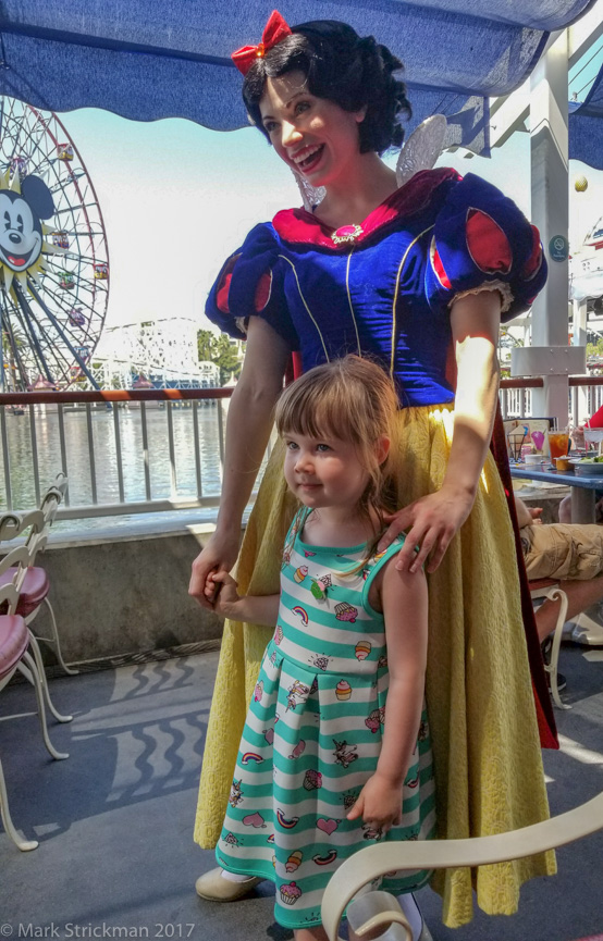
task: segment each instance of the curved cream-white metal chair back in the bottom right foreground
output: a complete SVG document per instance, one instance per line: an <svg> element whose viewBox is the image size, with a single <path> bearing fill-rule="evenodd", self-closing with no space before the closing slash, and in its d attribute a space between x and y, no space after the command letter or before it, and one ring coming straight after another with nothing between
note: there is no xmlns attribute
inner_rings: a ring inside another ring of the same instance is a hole
<svg viewBox="0 0 603 941"><path fill-rule="evenodd" d="M505 863L554 850L601 829L603 793L558 817L494 837L376 843L355 853L332 876L322 897L322 925L330 941L342 941L337 929L346 906L360 889L386 872ZM372 932L377 928L391 921L397 921L406 930L407 941L413 941L408 923L404 916L401 917L399 908L381 912L356 928L356 933L374 937Z"/></svg>

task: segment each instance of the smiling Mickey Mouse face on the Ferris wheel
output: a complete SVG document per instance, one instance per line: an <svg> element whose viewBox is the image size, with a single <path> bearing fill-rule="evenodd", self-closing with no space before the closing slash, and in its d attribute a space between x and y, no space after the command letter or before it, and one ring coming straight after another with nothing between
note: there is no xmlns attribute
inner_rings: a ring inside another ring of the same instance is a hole
<svg viewBox="0 0 603 941"><path fill-rule="evenodd" d="M41 220L54 214L50 189L39 176L26 176L21 193L0 189L0 264L23 272L38 260Z"/></svg>

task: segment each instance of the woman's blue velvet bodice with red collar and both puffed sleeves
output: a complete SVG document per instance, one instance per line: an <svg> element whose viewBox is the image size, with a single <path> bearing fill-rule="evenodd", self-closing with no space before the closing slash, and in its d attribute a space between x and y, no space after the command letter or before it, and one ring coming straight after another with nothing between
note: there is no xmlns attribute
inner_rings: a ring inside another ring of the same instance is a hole
<svg viewBox="0 0 603 941"><path fill-rule="evenodd" d="M226 261L207 315L234 336L261 317L304 370L371 355L403 407L451 401L453 301L491 288L504 320L526 310L546 278L538 231L494 186L447 169L416 174L360 228L335 242L312 213L279 212Z"/></svg>

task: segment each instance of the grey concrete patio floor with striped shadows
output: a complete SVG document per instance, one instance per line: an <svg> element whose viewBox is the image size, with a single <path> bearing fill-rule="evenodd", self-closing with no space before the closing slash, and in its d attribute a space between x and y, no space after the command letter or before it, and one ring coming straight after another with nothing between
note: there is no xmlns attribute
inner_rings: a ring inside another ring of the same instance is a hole
<svg viewBox="0 0 603 941"><path fill-rule="evenodd" d="M603 789L603 659L564 645L566 701L557 713L562 751L545 753L553 813ZM592 648L591 648L592 653ZM213 865L193 843L193 818L217 654L201 654L51 681L54 762L37 719L0 721L15 826L40 845L20 852L0 827L2 938L157 938L284 941L263 883L233 905L202 902L195 878ZM27 713L27 684L2 691L0 717ZM477 914L452 931L440 900L419 902L434 941L574 941L603 932L603 832L558 853L559 874L522 890L510 918Z"/></svg>

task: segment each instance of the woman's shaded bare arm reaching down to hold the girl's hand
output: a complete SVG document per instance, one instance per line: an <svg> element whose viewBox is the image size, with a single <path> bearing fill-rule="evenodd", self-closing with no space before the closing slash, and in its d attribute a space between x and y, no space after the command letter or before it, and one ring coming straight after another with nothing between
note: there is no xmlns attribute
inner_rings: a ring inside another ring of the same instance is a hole
<svg viewBox="0 0 603 941"><path fill-rule="evenodd" d="M268 444L290 354L285 341L266 321L250 318L243 371L229 406L216 532L193 562L188 586L188 594L205 608L211 608L205 592L209 572L230 571L236 561L243 510Z"/></svg>

